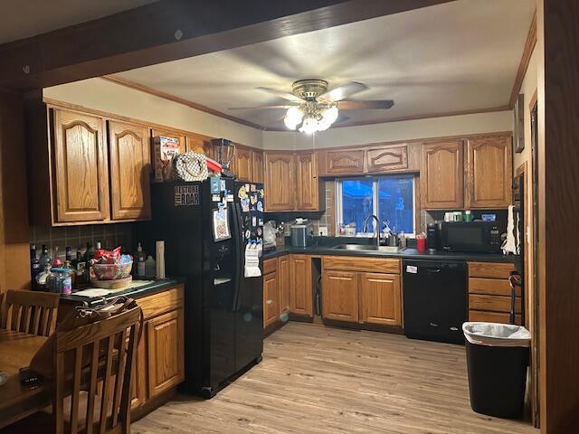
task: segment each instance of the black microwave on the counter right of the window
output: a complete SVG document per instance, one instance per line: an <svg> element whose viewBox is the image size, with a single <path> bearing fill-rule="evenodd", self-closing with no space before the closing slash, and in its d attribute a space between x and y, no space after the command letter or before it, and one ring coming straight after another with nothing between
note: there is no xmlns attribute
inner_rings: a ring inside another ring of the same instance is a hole
<svg viewBox="0 0 579 434"><path fill-rule="evenodd" d="M441 244L448 251L499 253L497 222L442 222Z"/></svg>

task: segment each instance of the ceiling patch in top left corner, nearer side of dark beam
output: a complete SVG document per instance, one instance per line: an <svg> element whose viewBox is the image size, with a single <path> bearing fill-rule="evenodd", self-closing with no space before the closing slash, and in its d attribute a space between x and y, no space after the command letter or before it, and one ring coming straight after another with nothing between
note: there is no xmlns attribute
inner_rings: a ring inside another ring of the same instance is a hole
<svg viewBox="0 0 579 434"><path fill-rule="evenodd" d="M0 43L117 14L157 0L0 0Z"/></svg>

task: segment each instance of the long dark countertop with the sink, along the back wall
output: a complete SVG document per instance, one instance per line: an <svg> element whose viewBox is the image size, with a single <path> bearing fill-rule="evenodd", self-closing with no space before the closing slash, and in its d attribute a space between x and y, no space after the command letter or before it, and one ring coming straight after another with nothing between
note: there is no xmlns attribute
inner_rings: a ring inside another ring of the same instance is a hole
<svg viewBox="0 0 579 434"><path fill-rule="evenodd" d="M351 242L350 242L351 244ZM342 250L332 246L309 246L293 247L280 246L275 250L263 253L263 259L277 258L289 253L305 255L335 255L335 256L357 256L357 257L380 257L380 258L400 258L400 259L433 259L433 260L477 260L481 262L510 262L519 260L515 255L501 255L497 253L461 253L438 250L435 252L419 252L416 249L406 248L397 253L389 253L376 250Z"/></svg>

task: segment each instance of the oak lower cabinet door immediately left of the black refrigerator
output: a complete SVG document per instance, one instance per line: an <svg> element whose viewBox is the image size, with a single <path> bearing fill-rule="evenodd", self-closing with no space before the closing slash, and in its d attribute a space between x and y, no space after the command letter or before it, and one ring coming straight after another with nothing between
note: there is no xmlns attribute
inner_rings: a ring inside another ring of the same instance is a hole
<svg viewBox="0 0 579 434"><path fill-rule="evenodd" d="M179 308L147 323L149 399L185 378L183 319L183 308Z"/></svg>

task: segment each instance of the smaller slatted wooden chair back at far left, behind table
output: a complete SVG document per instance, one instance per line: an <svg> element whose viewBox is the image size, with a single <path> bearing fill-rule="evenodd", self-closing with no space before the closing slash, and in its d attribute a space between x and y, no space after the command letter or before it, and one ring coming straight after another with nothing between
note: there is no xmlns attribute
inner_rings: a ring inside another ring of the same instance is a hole
<svg viewBox="0 0 579 434"><path fill-rule="evenodd" d="M59 294L8 289L5 294L2 327L31 335L48 336L54 332Z"/></svg>

